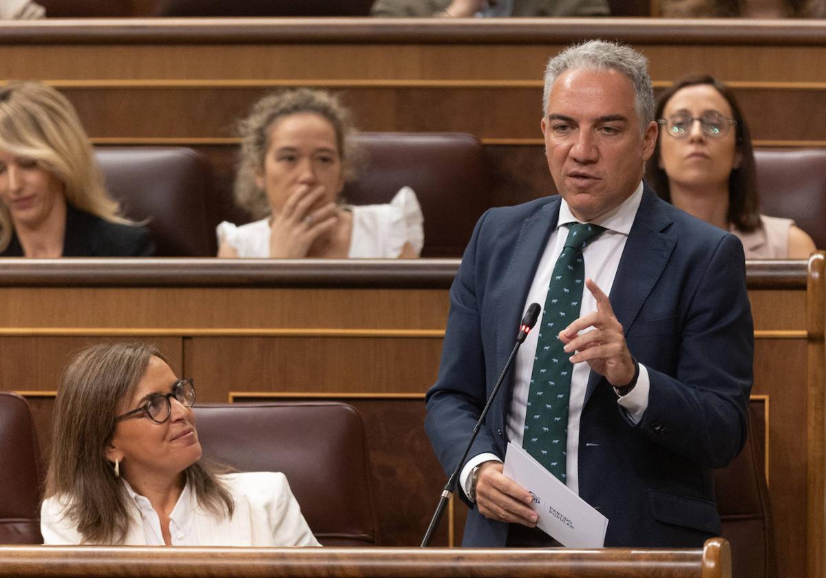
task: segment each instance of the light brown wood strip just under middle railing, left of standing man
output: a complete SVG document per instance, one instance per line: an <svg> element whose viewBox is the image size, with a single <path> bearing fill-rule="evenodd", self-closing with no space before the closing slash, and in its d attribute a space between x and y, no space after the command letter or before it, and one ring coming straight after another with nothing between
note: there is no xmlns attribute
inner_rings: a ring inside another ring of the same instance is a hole
<svg viewBox="0 0 826 578"><path fill-rule="evenodd" d="M8 304L0 310L0 328L80 334L89 332L84 328L122 329L125 334L130 329L165 328L176 334L225 329L225 335L233 329L265 333L270 328L440 330L449 305L444 291L403 289L0 287L0 299ZM97 310L102 303L107 306Z"/></svg>

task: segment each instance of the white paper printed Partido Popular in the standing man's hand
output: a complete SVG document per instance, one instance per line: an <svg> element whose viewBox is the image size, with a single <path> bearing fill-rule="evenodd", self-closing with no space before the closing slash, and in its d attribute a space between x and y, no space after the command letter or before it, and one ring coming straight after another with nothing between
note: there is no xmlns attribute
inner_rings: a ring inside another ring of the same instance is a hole
<svg viewBox="0 0 826 578"><path fill-rule="evenodd" d="M531 508L539 514L537 527L563 546L599 548L605 544L608 519L523 448L508 443L503 473L534 495Z"/></svg>

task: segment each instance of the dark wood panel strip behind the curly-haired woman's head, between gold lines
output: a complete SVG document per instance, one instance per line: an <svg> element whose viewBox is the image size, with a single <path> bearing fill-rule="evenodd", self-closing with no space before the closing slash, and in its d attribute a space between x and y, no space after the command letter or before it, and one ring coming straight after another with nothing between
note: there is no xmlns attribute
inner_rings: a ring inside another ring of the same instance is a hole
<svg viewBox="0 0 826 578"><path fill-rule="evenodd" d="M826 63L824 63L826 66ZM311 80L306 81L311 83ZM289 86L289 81L282 85ZM301 84L305 84L304 81ZM317 83L325 87L326 83ZM541 151L542 85L526 87L334 86L354 112L360 130L402 132L467 132L482 140L531 141ZM140 88L89 86L60 88L78 109L89 135L97 142L165 142L197 144L234 135L235 119L275 87L207 86ZM734 88L743 115L752 119L752 139L776 143L800 141L826 144L826 120L816 114L826 95L826 83L816 88ZM182 114L186 111L185 114ZM152 118L152 122L146 122ZM230 145L234 144L230 143Z"/></svg>

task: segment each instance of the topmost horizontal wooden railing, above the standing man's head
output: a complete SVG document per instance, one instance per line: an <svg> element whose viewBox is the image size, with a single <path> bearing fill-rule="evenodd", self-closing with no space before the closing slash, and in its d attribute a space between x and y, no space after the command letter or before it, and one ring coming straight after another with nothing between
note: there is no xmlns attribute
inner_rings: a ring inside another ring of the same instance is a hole
<svg viewBox="0 0 826 578"><path fill-rule="evenodd" d="M678 32L677 32L678 29ZM99 18L6 21L0 45L235 44L554 44L610 37L633 44L823 45L818 20L647 18Z"/></svg>

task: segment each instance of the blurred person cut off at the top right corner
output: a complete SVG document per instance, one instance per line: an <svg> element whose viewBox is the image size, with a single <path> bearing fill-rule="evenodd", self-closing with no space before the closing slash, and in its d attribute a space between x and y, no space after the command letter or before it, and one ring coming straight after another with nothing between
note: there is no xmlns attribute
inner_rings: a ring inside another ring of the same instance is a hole
<svg viewBox="0 0 826 578"><path fill-rule="evenodd" d="M666 18L824 18L826 0L660 0Z"/></svg>

